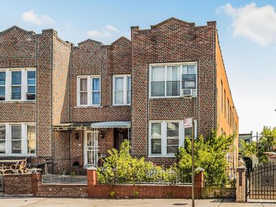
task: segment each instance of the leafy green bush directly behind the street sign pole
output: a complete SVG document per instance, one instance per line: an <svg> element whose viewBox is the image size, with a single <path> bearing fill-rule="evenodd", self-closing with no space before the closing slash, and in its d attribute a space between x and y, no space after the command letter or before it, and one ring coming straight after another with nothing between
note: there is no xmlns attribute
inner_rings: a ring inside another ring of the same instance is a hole
<svg viewBox="0 0 276 207"><path fill-rule="evenodd" d="M230 152L235 135L217 135L213 130L206 139L200 136L195 140L195 168L204 168L205 180L209 186L225 186L228 181L226 155ZM179 148L177 153L179 162L175 168L191 175L191 140L185 139L185 148Z"/></svg>

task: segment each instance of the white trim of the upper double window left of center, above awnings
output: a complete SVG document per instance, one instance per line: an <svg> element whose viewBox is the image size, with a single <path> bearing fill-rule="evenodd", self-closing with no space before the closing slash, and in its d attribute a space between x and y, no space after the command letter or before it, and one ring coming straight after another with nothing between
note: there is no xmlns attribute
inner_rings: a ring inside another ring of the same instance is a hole
<svg viewBox="0 0 276 207"><path fill-rule="evenodd" d="M81 104L79 89L80 79L87 78L87 104ZM99 78L99 104L92 104L92 78ZM101 76L100 75L78 75L77 76L77 106L78 107L99 107L101 106Z"/></svg>

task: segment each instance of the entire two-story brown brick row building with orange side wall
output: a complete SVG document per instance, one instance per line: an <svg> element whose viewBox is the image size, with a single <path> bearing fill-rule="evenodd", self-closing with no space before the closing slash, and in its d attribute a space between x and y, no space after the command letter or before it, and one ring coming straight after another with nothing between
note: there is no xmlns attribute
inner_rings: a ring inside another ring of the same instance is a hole
<svg viewBox="0 0 276 207"><path fill-rule="evenodd" d="M238 135L214 21L131 27L131 41L110 46L90 39L74 46L55 30L0 33L2 157L82 171L130 139L132 155L168 166L190 135L188 117L197 120L197 135Z"/></svg>

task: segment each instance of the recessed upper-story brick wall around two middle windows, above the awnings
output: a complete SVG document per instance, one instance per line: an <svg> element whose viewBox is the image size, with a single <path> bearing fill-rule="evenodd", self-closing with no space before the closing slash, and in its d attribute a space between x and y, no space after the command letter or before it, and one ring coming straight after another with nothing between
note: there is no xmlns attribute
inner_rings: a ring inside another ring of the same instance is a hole
<svg viewBox="0 0 276 207"><path fill-rule="evenodd" d="M130 106L112 106L112 75L131 74L131 42L120 38L111 46L86 40L72 50L72 121L130 121ZM101 106L77 107L77 76L101 76Z"/></svg>

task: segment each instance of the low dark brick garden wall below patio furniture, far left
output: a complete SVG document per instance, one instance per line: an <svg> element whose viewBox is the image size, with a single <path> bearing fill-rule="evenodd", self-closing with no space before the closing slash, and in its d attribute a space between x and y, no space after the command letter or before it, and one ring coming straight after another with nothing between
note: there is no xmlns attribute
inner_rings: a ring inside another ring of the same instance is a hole
<svg viewBox="0 0 276 207"><path fill-rule="evenodd" d="M32 195L32 175L4 175L4 195Z"/></svg>

